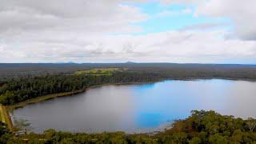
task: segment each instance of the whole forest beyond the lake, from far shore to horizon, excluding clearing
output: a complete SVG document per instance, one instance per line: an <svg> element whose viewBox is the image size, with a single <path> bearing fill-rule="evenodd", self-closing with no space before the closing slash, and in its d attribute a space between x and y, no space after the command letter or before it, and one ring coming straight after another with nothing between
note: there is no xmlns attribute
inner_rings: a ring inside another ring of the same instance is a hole
<svg viewBox="0 0 256 144"><path fill-rule="evenodd" d="M0 103L13 105L47 94L86 90L107 83L154 82L162 79L231 78L256 80L254 65L173 63L1 64ZM113 74L77 74L78 70L115 68ZM14 73L10 73L14 70ZM37 72L35 72L37 71ZM62 71L62 73L60 72ZM9 74L9 75L8 75ZM13 75L12 75L13 74ZM5 75L5 76L3 76Z"/></svg>

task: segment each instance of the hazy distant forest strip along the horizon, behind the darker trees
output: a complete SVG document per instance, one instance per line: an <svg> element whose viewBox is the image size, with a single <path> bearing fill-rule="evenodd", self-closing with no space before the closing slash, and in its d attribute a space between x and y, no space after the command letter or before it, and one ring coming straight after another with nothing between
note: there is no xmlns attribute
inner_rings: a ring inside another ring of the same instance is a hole
<svg viewBox="0 0 256 144"><path fill-rule="evenodd" d="M0 84L10 78L31 78L74 74L79 70L127 69L136 73L158 73L169 78L250 78L256 79L255 65L175 63L0 63Z"/></svg>

